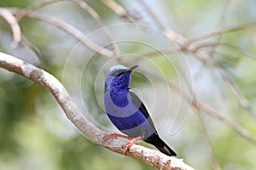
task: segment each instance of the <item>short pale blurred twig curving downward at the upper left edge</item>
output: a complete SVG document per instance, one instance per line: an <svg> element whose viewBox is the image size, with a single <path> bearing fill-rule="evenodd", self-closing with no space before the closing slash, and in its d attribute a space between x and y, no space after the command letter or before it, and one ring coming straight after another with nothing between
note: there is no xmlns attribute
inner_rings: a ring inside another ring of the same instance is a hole
<svg viewBox="0 0 256 170"><path fill-rule="evenodd" d="M0 16L3 17L9 23L9 26L12 29L14 41L12 42L12 46L15 48L21 42L21 32L18 21L15 19L15 16L9 12L6 8L0 8Z"/></svg>

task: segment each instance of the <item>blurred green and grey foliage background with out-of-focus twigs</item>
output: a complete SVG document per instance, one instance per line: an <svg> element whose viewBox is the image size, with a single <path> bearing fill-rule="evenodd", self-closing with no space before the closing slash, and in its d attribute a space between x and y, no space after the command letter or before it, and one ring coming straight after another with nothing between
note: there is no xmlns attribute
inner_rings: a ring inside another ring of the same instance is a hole
<svg viewBox="0 0 256 170"><path fill-rule="evenodd" d="M256 168L255 1L0 7L0 51L57 77L96 127L118 132L103 105L109 68L139 65L131 88L178 158L195 169ZM47 90L3 69L0 101L0 169L154 169L84 138Z"/></svg>

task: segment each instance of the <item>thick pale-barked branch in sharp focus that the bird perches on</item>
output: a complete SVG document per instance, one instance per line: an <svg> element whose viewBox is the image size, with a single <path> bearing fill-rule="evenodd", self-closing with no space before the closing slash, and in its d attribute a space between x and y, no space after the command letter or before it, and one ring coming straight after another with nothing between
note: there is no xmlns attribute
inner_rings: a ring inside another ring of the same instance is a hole
<svg viewBox="0 0 256 170"><path fill-rule="evenodd" d="M73 100L67 93L66 88L64 88L61 82L59 82L54 76L21 59L17 59L14 56L3 54L1 52L0 67L26 77L33 82L37 82L39 85L46 88L51 94L53 94L59 105L61 105L61 108L66 113L67 118L73 122L73 125L77 127L85 137L96 144L102 145L108 150L125 155L125 149L122 148L122 144L125 144L125 142L119 139L109 139L108 142L103 142L103 136L105 134L85 118L83 113L79 111L77 106L73 103ZM185 164L183 159L166 156L158 150L151 150L137 144L133 144L131 146L129 152L126 153L126 156L131 156L137 160L148 163L152 167L158 167L160 169L194 169L193 167L189 167L189 165Z"/></svg>

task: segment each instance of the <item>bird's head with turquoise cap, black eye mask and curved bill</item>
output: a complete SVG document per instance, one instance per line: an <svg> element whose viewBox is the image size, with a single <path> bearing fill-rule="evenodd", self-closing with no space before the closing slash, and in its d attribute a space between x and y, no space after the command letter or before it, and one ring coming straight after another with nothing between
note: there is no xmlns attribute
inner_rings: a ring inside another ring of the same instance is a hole
<svg viewBox="0 0 256 170"><path fill-rule="evenodd" d="M110 68L108 77L105 82L105 91L113 90L128 90L131 80L131 71L137 68L138 65L127 68L124 65L115 65Z"/></svg>

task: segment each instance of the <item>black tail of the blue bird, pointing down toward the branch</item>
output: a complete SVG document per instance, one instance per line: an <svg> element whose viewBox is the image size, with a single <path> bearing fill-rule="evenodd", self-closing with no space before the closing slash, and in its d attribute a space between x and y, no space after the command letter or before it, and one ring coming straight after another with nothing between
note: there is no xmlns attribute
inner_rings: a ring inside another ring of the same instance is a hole
<svg viewBox="0 0 256 170"><path fill-rule="evenodd" d="M149 144L153 144L158 150L167 156L177 156L177 154L155 133L144 141Z"/></svg>

